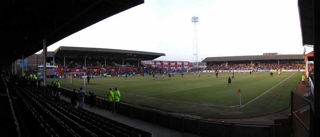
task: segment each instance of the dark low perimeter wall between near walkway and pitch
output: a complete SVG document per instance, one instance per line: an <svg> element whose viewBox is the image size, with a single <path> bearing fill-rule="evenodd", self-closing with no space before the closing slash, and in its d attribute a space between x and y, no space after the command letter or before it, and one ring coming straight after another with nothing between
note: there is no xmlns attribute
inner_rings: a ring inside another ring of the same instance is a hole
<svg viewBox="0 0 320 137"><path fill-rule="evenodd" d="M71 96L73 90L61 87L60 92ZM96 105L107 109L107 100L104 97L96 96ZM89 95L85 96L84 102L89 102ZM176 115L169 112L150 109L132 105L129 103L118 103L118 114L147 121L153 124L161 125L182 133L192 133L201 136L281 136L281 124L250 124L206 120L201 118L192 118L184 115Z"/></svg>

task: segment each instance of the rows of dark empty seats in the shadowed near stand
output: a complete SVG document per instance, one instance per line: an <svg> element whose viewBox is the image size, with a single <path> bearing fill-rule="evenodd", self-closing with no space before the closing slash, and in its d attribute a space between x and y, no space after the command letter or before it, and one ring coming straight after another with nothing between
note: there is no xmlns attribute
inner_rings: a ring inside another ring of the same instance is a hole
<svg viewBox="0 0 320 137"><path fill-rule="evenodd" d="M56 102L40 90L21 87L11 82L7 84L8 94L17 98L15 106L21 110L19 124L26 123L23 126L24 133L16 132L23 136L151 137L149 132L83 108L72 107L64 100Z"/></svg>

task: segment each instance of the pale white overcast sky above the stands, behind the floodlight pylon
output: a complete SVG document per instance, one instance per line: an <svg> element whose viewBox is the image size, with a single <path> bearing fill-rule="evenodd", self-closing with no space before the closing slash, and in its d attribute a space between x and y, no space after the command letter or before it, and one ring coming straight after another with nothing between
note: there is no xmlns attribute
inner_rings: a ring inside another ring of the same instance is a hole
<svg viewBox="0 0 320 137"><path fill-rule="evenodd" d="M48 47L126 49L164 53L156 60L303 54L297 0L145 0ZM312 48L306 47L307 53Z"/></svg>

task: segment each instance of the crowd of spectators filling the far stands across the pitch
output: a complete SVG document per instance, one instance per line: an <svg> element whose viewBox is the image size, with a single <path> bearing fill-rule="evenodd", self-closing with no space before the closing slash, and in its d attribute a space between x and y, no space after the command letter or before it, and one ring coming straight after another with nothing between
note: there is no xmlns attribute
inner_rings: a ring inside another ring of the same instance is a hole
<svg viewBox="0 0 320 137"><path fill-rule="evenodd" d="M103 71L86 71L86 67L84 66L84 62L81 62L81 60L76 60L76 61L68 61L66 62L66 66L63 66L64 62L56 60L55 63L62 68L84 68L86 75L90 76L104 76L104 75L132 75L132 74L152 74L152 73L158 73L158 74L163 74L164 72L170 72L170 73L181 73L181 72L187 72L187 69L168 69L168 68L154 68L154 67L147 67L143 65L139 65L140 67L137 67L138 63L136 61L126 61L124 62L125 65L130 65L133 66L133 69L118 69L117 66L122 66L119 65L120 62L116 62L116 60L106 60L106 66L104 63L101 63L101 60L97 61L92 61L92 60L87 60L85 65L86 66L97 66L97 68L103 69ZM120 61L120 60L119 60ZM103 60L104 62L104 60ZM122 64L122 60L121 60ZM110 69L107 68L107 66L116 66L115 69ZM233 63L213 63L208 65L206 68L190 68L189 71L197 72L197 71L205 71L205 70L279 70L279 69L292 69L292 70L299 70L299 69L305 69L304 63L302 62L233 62ZM68 69L64 69L63 72L69 72ZM64 75L63 78L66 78L67 73L63 73L60 75ZM82 74L76 74L76 77L80 77ZM74 76L73 76L74 77ZM47 78L57 78L55 75L48 75ZM62 77L61 77L62 78Z"/></svg>

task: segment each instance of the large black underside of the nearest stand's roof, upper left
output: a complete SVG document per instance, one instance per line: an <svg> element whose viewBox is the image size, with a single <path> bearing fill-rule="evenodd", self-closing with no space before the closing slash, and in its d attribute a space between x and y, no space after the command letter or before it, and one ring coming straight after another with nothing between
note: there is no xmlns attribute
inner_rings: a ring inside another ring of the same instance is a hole
<svg viewBox="0 0 320 137"><path fill-rule="evenodd" d="M1 65L10 66L47 46L144 0L45 0L0 2ZM8 56L9 55L9 56Z"/></svg>

